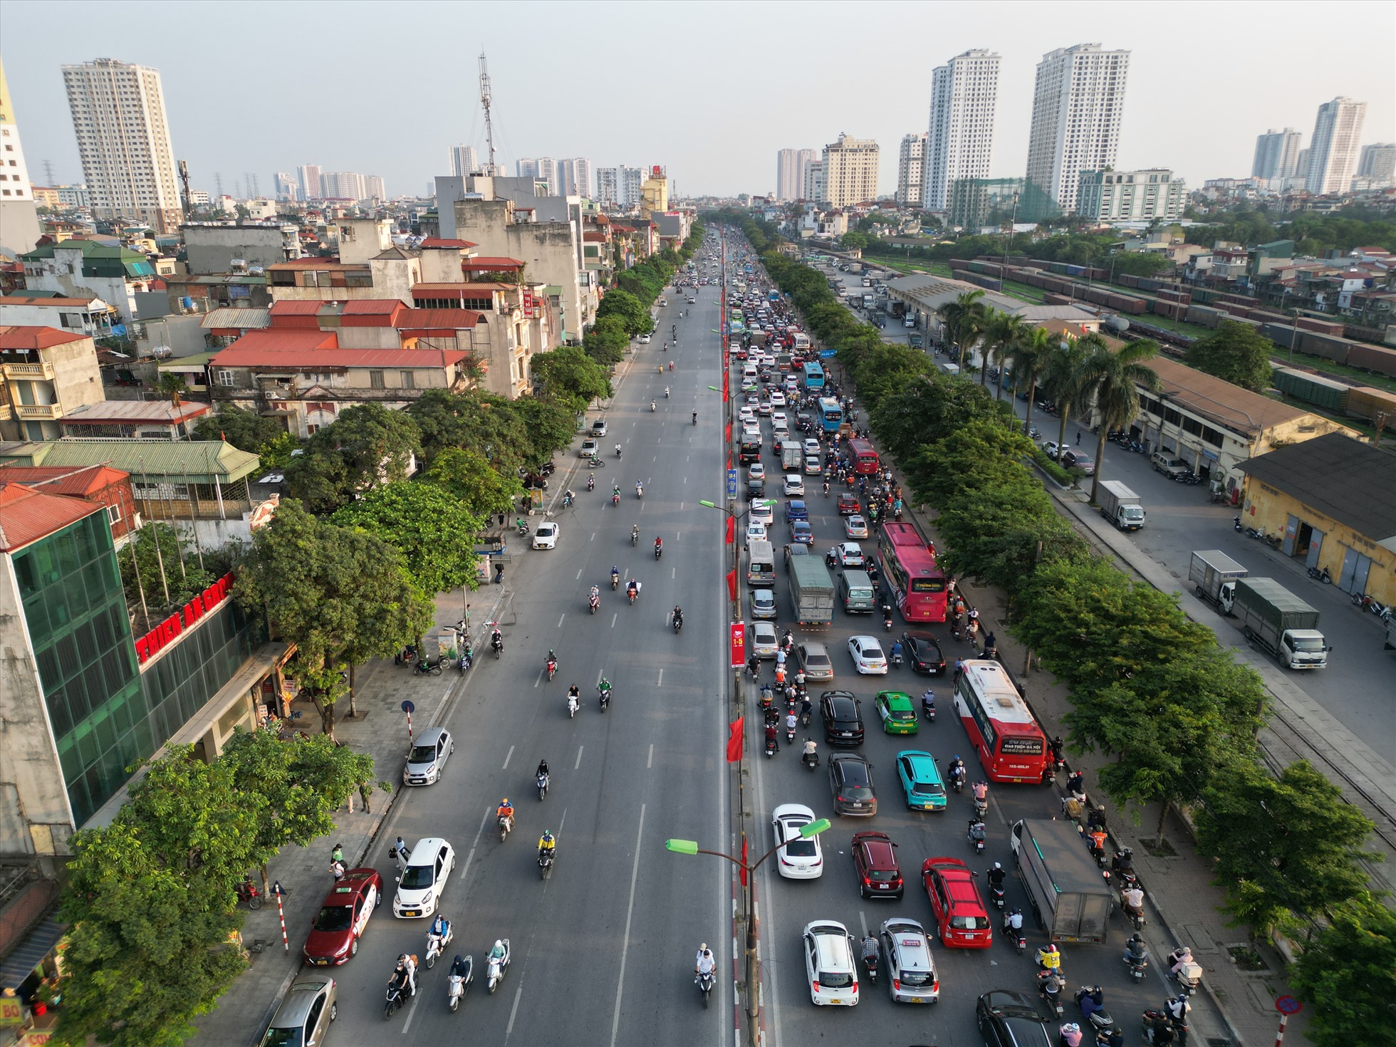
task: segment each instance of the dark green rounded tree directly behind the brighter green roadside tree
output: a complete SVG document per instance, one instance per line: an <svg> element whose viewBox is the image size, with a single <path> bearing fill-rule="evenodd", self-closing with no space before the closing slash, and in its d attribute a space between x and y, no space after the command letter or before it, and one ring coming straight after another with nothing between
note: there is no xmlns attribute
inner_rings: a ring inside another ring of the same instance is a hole
<svg viewBox="0 0 1396 1047"><path fill-rule="evenodd" d="M286 486L311 512L328 514L380 483L405 479L422 455L412 417L381 403L346 408L286 465Z"/></svg>

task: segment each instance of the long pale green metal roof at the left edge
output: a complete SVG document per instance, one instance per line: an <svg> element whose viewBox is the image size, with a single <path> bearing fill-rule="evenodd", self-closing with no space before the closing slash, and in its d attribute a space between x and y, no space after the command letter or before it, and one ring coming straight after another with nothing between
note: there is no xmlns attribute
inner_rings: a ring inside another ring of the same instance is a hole
<svg viewBox="0 0 1396 1047"><path fill-rule="evenodd" d="M110 463L131 476L172 483L233 483L257 472L260 459L222 440L45 440L0 444L0 462L85 466Z"/></svg>

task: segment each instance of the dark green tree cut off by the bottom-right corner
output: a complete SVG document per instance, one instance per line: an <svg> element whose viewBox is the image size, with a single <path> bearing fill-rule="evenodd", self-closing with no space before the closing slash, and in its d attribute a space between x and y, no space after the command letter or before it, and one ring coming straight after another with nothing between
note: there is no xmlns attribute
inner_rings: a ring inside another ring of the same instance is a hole
<svg viewBox="0 0 1396 1047"><path fill-rule="evenodd" d="M1291 984L1318 1047L1396 1043L1396 913L1371 895L1330 909L1304 945Z"/></svg>

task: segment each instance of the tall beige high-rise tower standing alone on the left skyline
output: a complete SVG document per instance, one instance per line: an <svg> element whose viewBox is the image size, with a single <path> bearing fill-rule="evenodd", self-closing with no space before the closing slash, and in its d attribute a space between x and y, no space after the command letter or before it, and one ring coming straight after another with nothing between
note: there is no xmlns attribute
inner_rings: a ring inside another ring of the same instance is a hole
<svg viewBox="0 0 1396 1047"><path fill-rule="evenodd" d="M98 59L64 66L63 82L95 216L177 229L179 177L159 70Z"/></svg>

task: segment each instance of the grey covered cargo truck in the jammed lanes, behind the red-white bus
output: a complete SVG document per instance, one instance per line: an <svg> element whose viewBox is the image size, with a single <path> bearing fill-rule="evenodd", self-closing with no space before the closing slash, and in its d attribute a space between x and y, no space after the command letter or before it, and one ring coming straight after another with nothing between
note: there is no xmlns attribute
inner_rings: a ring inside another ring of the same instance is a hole
<svg viewBox="0 0 1396 1047"><path fill-rule="evenodd" d="M1047 940L1103 942L1115 899L1075 824L1025 818L1013 824L1008 843Z"/></svg>

